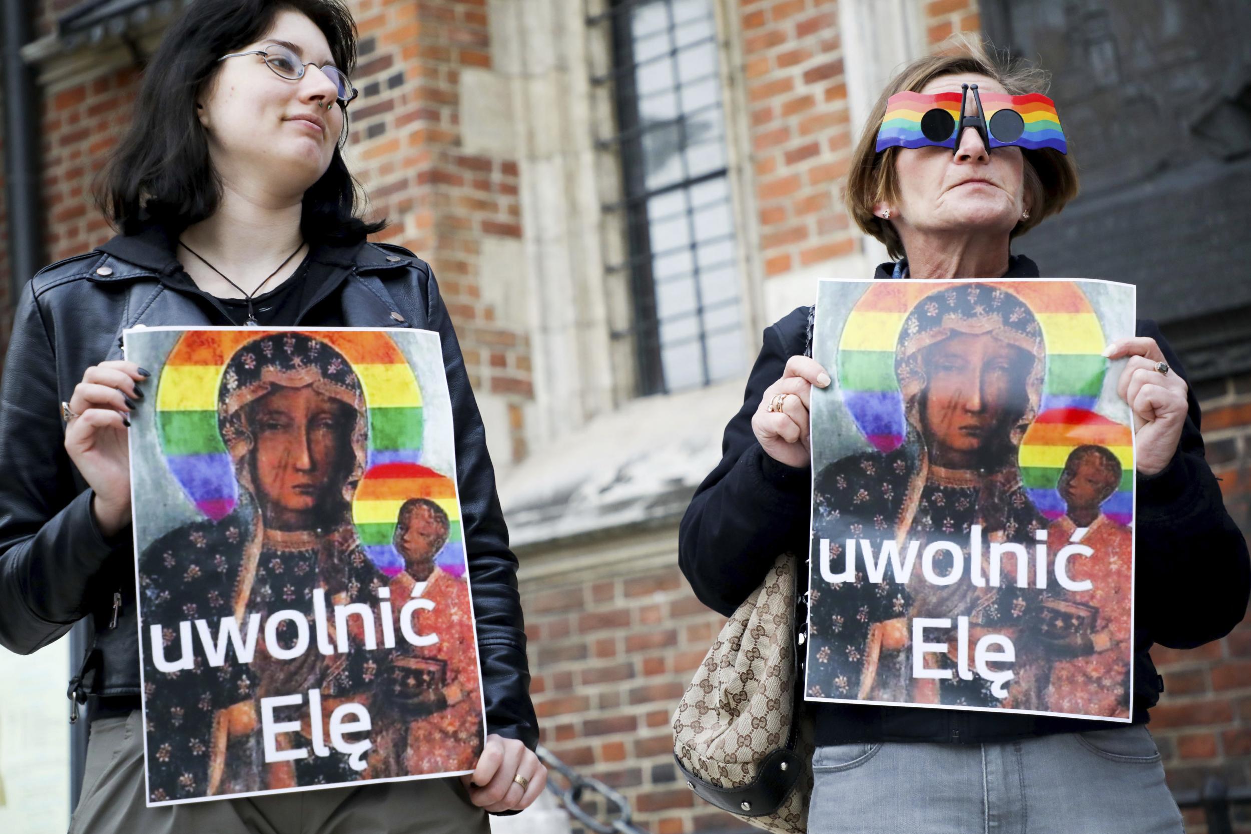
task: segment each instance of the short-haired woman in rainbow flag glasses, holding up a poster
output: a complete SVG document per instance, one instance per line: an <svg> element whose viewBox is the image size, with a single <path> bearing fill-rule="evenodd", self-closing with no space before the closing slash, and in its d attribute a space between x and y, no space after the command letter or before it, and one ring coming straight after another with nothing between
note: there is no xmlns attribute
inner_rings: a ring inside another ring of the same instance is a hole
<svg viewBox="0 0 1251 834"><path fill-rule="evenodd" d="M1041 89L1035 71L1001 66L965 49L907 66L869 118L853 157L847 204L857 224L897 258L878 267L879 279L1038 275L1033 262L1011 254L1011 242L1076 194L1076 167L1068 158L1052 149L990 142L983 130L963 124L948 147L877 149L891 95L961 94L973 84L991 94ZM682 521L683 572L701 600L727 615L778 555L808 548L808 399L812 386L831 382L811 358L811 317L809 308L799 308L764 331L743 407L726 430L724 457ZM952 347L968 359L988 346ZM1007 352L1005 368L1015 356ZM1137 428L1133 724L807 705L818 745L812 831L941 834L991 825L1037 833L1181 830L1160 753L1145 728L1147 708L1161 691L1147 650L1155 642L1197 646L1228 632L1245 614L1251 571L1246 542L1203 461L1197 402L1160 329L1141 321L1137 336L1110 346L1106 356L1128 358L1118 393ZM1011 414L1022 413L1021 403L1011 402L1015 387L1005 389L1001 428ZM782 411L771 408L778 394L788 394ZM962 418L981 420L986 411L983 402L950 404ZM991 432L957 432L953 442L945 442L938 422L927 423L942 458L936 455L932 463L956 480L962 471L985 467L978 458L993 445L971 441ZM826 477L818 478L818 493L829 488ZM828 477L837 478L837 472ZM879 620L886 616L881 612ZM854 681L857 690L867 685L883 682Z"/></svg>

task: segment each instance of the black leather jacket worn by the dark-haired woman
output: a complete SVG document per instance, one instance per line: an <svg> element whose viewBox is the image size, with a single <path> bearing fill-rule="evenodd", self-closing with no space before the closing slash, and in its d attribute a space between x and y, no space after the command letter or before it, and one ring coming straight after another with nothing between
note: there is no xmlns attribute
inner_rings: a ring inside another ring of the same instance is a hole
<svg viewBox="0 0 1251 834"><path fill-rule="evenodd" d="M508 548L482 417L434 273L412 252L387 244L322 247L313 258L329 272L290 324L324 324L306 314L330 309L334 324L417 327L442 337L488 731L534 749L538 721L517 557ZM71 681L79 700L139 694L134 550L129 528L115 540L100 533L93 491L65 452L60 403L89 366L121 358L124 328L213 323L189 293L161 283L163 274L178 269L164 235L119 235L41 269L16 304L0 387L0 645L29 654L86 617L94 647ZM335 294L338 304L325 303Z"/></svg>

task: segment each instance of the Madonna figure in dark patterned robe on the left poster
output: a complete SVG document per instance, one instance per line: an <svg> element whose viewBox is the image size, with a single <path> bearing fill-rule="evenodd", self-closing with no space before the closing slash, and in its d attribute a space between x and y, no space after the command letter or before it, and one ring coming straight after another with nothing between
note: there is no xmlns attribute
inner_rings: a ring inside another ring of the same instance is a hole
<svg viewBox="0 0 1251 834"><path fill-rule="evenodd" d="M369 432L360 379L342 353L303 333L246 342L221 377L218 430L234 465L235 508L165 533L139 561L141 634L146 640L160 625L164 641L163 652L150 645L144 652L151 800L403 775L379 770L367 733L332 746L327 725L333 710L354 704L349 710L363 709L378 728L398 704L378 691L389 679L389 652L364 650L365 619L345 617L339 630L347 634L337 634L328 616L338 605L377 606L387 585L352 521ZM306 630L285 619L273 634L266 627L239 641L254 646L243 657L239 644L221 639L224 660L211 662L201 640L179 632L180 621L204 620L216 639L223 617L234 616L246 635L251 617L266 622L280 611L304 617ZM275 657L298 645L300 632L319 636L298 656ZM279 760L266 755L261 699L269 696L300 696L274 711L278 721L300 725L273 734ZM296 749L309 754L295 758Z"/></svg>

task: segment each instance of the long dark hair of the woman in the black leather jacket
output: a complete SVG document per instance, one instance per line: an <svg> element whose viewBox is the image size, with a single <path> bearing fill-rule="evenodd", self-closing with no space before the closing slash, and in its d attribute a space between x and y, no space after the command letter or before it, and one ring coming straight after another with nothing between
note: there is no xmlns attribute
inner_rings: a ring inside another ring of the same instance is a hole
<svg viewBox="0 0 1251 834"><path fill-rule="evenodd" d="M343 0L196 0L161 39L135 103L134 120L96 183L95 199L123 234L158 223L181 230L213 215L221 180L195 103L218 59L259 40L280 11L305 15L322 30L337 65L357 63L357 24ZM344 133L347 136L347 113ZM350 244L385 228L357 215L358 183L342 154L304 193L300 229L308 240Z"/></svg>

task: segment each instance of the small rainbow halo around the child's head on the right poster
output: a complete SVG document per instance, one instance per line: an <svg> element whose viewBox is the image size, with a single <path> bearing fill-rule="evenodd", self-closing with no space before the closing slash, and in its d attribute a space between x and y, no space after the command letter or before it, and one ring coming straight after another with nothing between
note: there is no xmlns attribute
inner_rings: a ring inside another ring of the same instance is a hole
<svg viewBox="0 0 1251 834"><path fill-rule="evenodd" d="M1057 485L1070 452L1078 446L1102 446L1121 462L1121 485L1103 502L1112 521L1133 521L1133 433L1128 426L1086 408L1045 411L1026 430L1021 441L1021 480L1033 505L1047 518L1065 515Z"/></svg>

